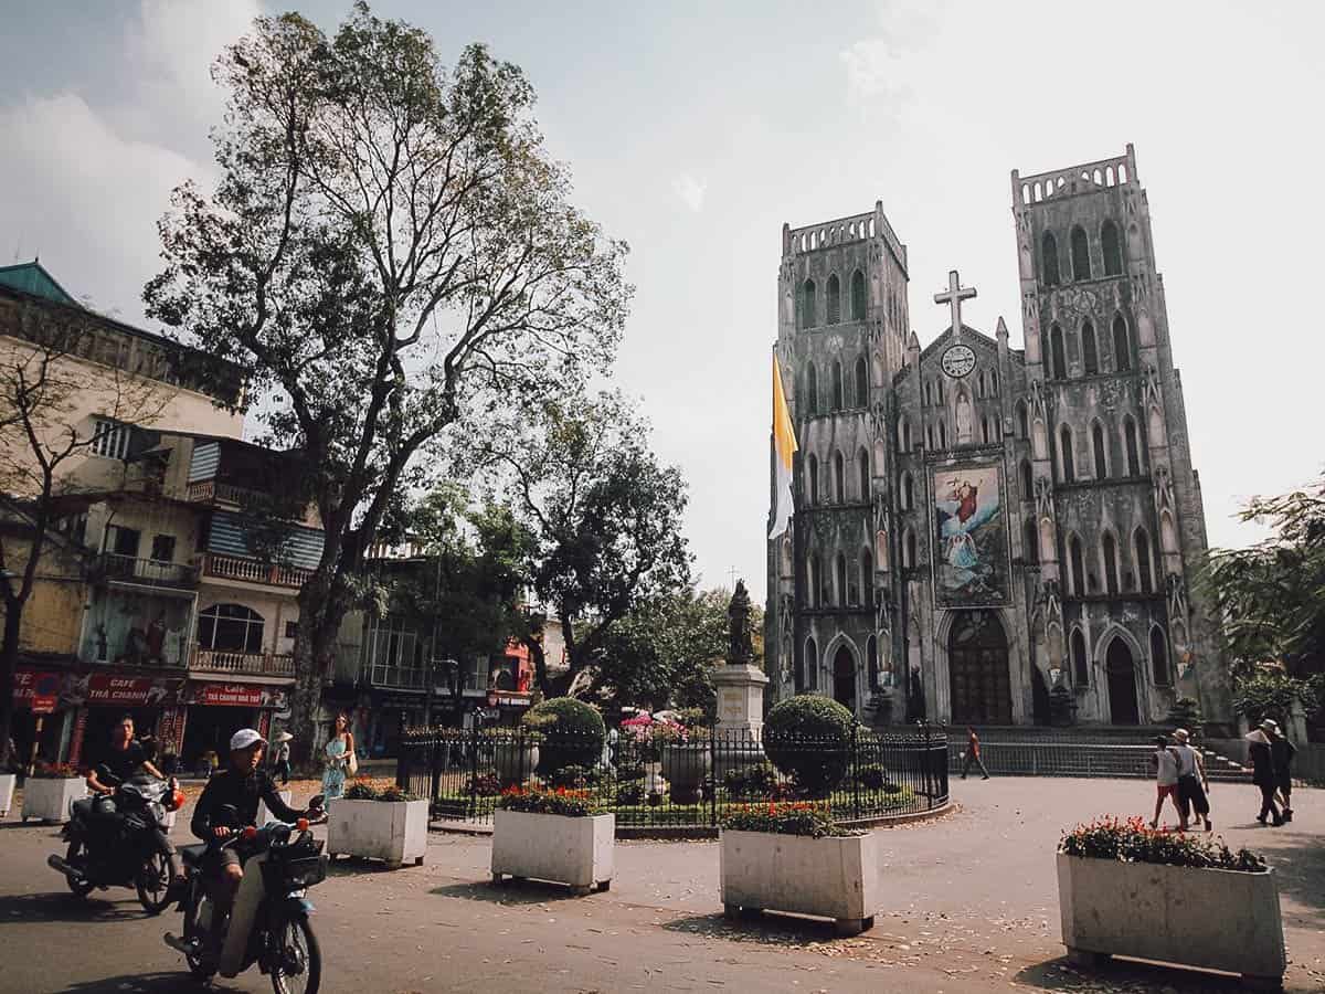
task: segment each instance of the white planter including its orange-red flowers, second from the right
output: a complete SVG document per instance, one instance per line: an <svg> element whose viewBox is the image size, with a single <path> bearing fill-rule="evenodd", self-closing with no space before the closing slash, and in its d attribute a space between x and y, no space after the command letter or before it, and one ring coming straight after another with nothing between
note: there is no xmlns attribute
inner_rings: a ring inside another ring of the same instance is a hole
<svg viewBox="0 0 1325 994"><path fill-rule="evenodd" d="M718 832L727 917L766 909L832 918L837 933L872 928L880 904L878 839L833 824L807 801L741 804Z"/></svg>

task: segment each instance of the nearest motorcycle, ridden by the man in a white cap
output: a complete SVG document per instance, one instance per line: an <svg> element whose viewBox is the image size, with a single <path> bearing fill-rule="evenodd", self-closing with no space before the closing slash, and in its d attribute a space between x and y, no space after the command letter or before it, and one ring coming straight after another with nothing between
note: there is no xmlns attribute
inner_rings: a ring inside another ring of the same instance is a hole
<svg viewBox="0 0 1325 994"><path fill-rule="evenodd" d="M322 795L309 802L321 808ZM233 807L221 808L221 822ZM326 880L327 856L322 842L309 831L309 819L295 824L269 822L262 828L248 826L224 842L182 846L186 877L179 911L184 912L183 936L166 934L166 945L184 954L189 971L199 979L237 977L257 964L272 978L276 994L317 994L322 982L322 953L309 916L313 903L307 888ZM244 859L244 876L220 950L211 944L213 901L207 892L204 860L208 852L237 847Z"/></svg>

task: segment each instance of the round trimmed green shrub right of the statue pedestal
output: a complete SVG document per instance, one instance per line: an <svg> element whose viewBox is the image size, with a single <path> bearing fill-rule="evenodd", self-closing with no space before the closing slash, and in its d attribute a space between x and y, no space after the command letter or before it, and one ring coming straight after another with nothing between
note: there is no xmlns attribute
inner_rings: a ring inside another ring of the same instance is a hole
<svg viewBox="0 0 1325 994"><path fill-rule="evenodd" d="M829 697L779 701L763 726L763 751L811 797L832 791L847 775L855 716Z"/></svg>

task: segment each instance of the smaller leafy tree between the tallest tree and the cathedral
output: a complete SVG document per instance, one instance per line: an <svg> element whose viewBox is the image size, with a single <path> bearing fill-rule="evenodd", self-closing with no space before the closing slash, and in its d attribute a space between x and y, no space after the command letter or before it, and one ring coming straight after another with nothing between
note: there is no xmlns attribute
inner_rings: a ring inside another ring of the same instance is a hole
<svg viewBox="0 0 1325 994"><path fill-rule="evenodd" d="M617 394L547 400L492 431L474 457L534 535L530 582L560 622L567 672L550 677L539 640L526 644L539 687L562 696L632 610L688 584L685 481L659 465Z"/></svg>

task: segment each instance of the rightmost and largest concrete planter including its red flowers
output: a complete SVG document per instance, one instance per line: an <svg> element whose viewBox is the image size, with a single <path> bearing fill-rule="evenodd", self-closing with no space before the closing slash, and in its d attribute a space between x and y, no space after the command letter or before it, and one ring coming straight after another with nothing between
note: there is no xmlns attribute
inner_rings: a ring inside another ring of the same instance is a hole
<svg viewBox="0 0 1325 994"><path fill-rule="evenodd" d="M1279 888L1253 852L1100 818L1064 832L1057 872L1063 944L1076 962L1134 956L1283 983Z"/></svg>

